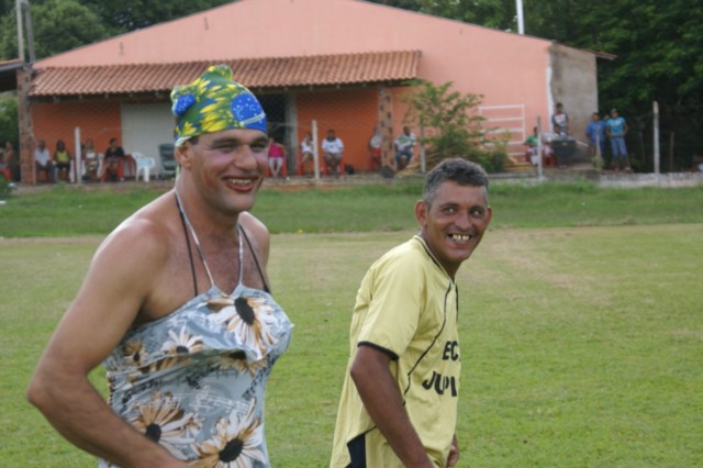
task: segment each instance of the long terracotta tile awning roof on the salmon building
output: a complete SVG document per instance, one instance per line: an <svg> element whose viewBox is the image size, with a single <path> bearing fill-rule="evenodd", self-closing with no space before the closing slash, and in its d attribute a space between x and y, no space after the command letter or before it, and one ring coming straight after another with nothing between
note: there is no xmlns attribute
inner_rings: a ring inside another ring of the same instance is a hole
<svg viewBox="0 0 703 468"><path fill-rule="evenodd" d="M32 97L131 94L170 91L209 65L232 67L248 88L297 88L403 81L417 77L420 51L245 58L180 64L38 68Z"/></svg>

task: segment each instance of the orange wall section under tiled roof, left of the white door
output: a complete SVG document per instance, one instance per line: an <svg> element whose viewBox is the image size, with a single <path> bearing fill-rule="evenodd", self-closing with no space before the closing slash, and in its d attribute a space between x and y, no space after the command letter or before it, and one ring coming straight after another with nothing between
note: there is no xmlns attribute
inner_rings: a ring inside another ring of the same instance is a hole
<svg viewBox="0 0 703 468"><path fill-rule="evenodd" d="M116 137L122 142L120 104L115 101L33 103L32 119L35 140L44 140L52 154L58 140L66 143L71 154L75 153L77 126L80 127L82 143L92 138L100 153L108 148L110 138Z"/></svg>

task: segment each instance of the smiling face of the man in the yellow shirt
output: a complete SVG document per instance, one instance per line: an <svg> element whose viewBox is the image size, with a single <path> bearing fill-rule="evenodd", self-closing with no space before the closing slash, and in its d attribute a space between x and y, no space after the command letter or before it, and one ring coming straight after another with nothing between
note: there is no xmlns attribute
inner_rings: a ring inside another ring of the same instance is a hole
<svg viewBox="0 0 703 468"><path fill-rule="evenodd" d="M421 236L451 278L481 242L491 222L484 187L442 182L429 203L415 204Z"/></svg>

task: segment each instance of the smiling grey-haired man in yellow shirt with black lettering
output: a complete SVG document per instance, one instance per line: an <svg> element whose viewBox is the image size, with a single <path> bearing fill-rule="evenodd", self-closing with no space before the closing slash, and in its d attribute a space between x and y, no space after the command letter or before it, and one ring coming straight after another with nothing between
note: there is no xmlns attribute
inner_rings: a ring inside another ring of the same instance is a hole
<svg viewBox="0 0 703 468"><path fill-rule="evenodd" d="M332 468L456 465L461 360L455 275L491 215L483 169L446 159L429 172L415 204L420 233L367 271L352 317Z"/></svg>

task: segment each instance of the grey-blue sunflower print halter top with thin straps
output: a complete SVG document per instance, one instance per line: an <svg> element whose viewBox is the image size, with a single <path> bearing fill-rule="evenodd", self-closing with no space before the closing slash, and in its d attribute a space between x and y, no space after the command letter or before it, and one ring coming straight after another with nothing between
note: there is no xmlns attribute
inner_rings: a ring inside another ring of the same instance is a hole
<svg viewBox="0 0 703 468"><path fill-rule="evenodd" d="M210 290L130 331L103 363L113 411L194 467L269 466L266 382L293 325L268 292L242 283L242 232L231 294L214 286L201 257Z"/></svg>

